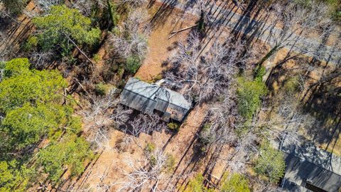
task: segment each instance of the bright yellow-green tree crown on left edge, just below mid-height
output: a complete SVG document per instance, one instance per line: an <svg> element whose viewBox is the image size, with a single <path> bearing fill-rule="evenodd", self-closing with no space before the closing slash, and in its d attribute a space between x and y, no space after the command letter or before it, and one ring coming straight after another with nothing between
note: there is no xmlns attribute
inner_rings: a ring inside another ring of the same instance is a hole
<svg viewBox="0 0 341 192"><path fill-rule="evenodd" d="M67 124L72 110L62 105L38 104L33 106L26 102L23 107L11 110L6 114L0 130L10 135L11 146L22 149L28 144L36 143L44 134L53 134L60 124Z"/></svg>

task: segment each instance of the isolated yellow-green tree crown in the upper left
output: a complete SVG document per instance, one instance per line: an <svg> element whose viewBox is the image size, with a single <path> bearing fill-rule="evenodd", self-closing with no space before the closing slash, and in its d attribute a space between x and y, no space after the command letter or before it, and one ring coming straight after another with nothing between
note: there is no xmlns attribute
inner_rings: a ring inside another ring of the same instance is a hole
<svg viewBox="0 0 341 192"><path fill-rule="evenodd" d="M64 55L69 55L73 45L70 37L77 44L94 45L99 41L99 28L91 27L91 20L80 14L77 9L66 6L52 6L48 14L33 18L38 28L39 46L43 50L50 50L60 46Z"/></svg>

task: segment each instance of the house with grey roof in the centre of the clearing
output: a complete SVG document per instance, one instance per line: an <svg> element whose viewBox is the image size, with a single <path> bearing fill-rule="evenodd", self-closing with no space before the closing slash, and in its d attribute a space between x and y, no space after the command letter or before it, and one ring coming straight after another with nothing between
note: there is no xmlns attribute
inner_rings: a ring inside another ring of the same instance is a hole
<svg viewBox="0 0 341 192"><path fill-rule="evenodd" d="M182 122L191 102L179 92L130 78L121 92L121 104L146 114L161 114L163 121Z"/></svg>

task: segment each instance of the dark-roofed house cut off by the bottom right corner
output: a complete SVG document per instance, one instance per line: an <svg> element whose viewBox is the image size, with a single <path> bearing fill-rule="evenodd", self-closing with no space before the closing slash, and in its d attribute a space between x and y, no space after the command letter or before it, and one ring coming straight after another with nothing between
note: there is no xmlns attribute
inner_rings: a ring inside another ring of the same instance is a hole
<svg viewBox="0 0 341 192"><path fill-rule="evenodd" d="M310 142L303 145L284 142L282 149L286 172L281 187L294 192L339 192L341 190L341 158L319 149Z"/></svg>

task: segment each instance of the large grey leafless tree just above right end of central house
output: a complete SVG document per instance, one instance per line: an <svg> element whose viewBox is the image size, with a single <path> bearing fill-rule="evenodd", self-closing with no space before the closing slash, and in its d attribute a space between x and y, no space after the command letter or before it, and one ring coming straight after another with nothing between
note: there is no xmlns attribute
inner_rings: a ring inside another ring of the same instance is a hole
<svg viewBox="0 0 341 192"><path fill-rule="evenodd" d="M166 74L166 79L197 102L222 96L237 73L237 64L246 61L242 43L229 38L224 44L214 43L202 56L197 33L190 34L187 45L180 43L178 47L171 62L173 71Z"/></svg>

